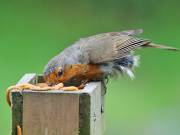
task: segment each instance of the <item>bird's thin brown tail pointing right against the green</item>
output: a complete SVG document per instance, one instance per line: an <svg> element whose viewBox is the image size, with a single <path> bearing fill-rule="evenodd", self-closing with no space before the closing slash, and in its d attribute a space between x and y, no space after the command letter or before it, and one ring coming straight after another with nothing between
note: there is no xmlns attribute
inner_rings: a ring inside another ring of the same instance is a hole
<svg viewBox="0 0 180 135"><path fill-rule="evenodd" d="M154 44L154 43L148 43L147 45L145 45L145 47L159 48L159 49L170 50L170 51L180 51L178 48Z"/></svg>

